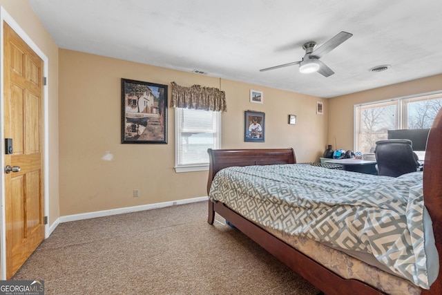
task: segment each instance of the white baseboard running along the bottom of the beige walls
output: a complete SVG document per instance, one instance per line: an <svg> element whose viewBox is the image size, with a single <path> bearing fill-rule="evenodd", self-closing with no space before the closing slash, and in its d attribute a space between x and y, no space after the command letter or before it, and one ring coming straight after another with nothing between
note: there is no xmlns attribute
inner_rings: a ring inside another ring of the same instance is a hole
<svg viewBox="0 0 442 295"><path fill-rule="evenodd" d="M97 217L111 216L111 215L117 215L117 214L123 214L123 213L131 213L131 212L137 212L137 211L171 207L171 206L180 205L180 204L202 202L204 200L208 200L208 198L207 197L198 197L198 198L191 198L191 199L184 199L184 200L177 200L177 201L161 202L161 203L155 203L155 204L146 204L146 205L140 205L140 206L134 206L134 207L124 207L124 208L111 209L111 210L103 210L103 211L95 211L95 212L60 216L59 218L57 218L57 220L55 220L54 223L52 223L52 225L50 225L49 233L46 234L46 238L48 238L48 236L50 236L50 234L52 234L52 231L54 231L55 228L60 223L63 223L63 222L70 222L70 221L84 220L84 219L89 219L89 218L97 218Z"/></svg>

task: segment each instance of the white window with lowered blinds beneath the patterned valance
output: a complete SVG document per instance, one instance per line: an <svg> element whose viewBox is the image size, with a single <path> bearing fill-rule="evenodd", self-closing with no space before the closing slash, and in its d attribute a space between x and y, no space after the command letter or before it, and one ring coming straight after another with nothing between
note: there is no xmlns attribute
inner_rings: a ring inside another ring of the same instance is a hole
<svg viewBox="0 0 442 295"><path fill-rule="evenodd" d="M175 125L175 171L208 170L207 149L220 149L220 112L175 108Z"/></svg>

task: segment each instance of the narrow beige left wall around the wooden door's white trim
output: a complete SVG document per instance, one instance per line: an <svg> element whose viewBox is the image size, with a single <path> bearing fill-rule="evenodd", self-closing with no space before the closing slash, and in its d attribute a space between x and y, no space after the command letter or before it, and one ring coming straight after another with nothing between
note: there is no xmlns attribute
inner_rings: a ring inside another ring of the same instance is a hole
<svg viewBox="0 0 442 295"><path fill-rule="evenodd" d="M6 12L48 57L49 225L59 218L58 47L37 19L28 1L0 0Z"/></svg>

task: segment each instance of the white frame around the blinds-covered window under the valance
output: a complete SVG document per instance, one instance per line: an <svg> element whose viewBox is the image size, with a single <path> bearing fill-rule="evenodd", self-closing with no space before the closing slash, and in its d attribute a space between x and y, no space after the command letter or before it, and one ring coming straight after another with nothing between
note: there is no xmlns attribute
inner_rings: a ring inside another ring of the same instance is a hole
<svg viewBox="0 0 442 295"><path fill-rule="evenodd" d="M180 114L179 111L185 108L175 108L175 172L195 172L195 171L208 171L209 163L195 163L195 164L179 164L180 162L180 143L181 143L181 134L182 131L180 129ZM209 111L216 113L216 117L214 118L216 126L215 126L215 144L212 149L220 149L221 147L221 112L218 111ZM213 134L213 133L212 133ZM209 154L207 154L209 156Z"/></svg>

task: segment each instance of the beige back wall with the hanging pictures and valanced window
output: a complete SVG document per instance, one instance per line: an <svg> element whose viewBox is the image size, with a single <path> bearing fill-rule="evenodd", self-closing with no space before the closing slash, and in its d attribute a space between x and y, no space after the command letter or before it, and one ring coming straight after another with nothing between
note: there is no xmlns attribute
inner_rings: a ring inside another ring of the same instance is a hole
<svg viewBox="0 0 442 295"><path fill-rule="evenodd" d="M121 78L182 86L200 84L226 92L222 148L293 146L298 162L316 161L325 149L327 113L316 115L308 95L59 50L60 215L206 196L207 171L175 173L174 110L168 144L120 144ZM250 89L264 104L249 102ZM265 112L265 143L244 142L244 111ZM288 115L297 115L296 125ZM110 151L113 161L102 156ZM133 189L140 196L133 197Z"/></svg>

